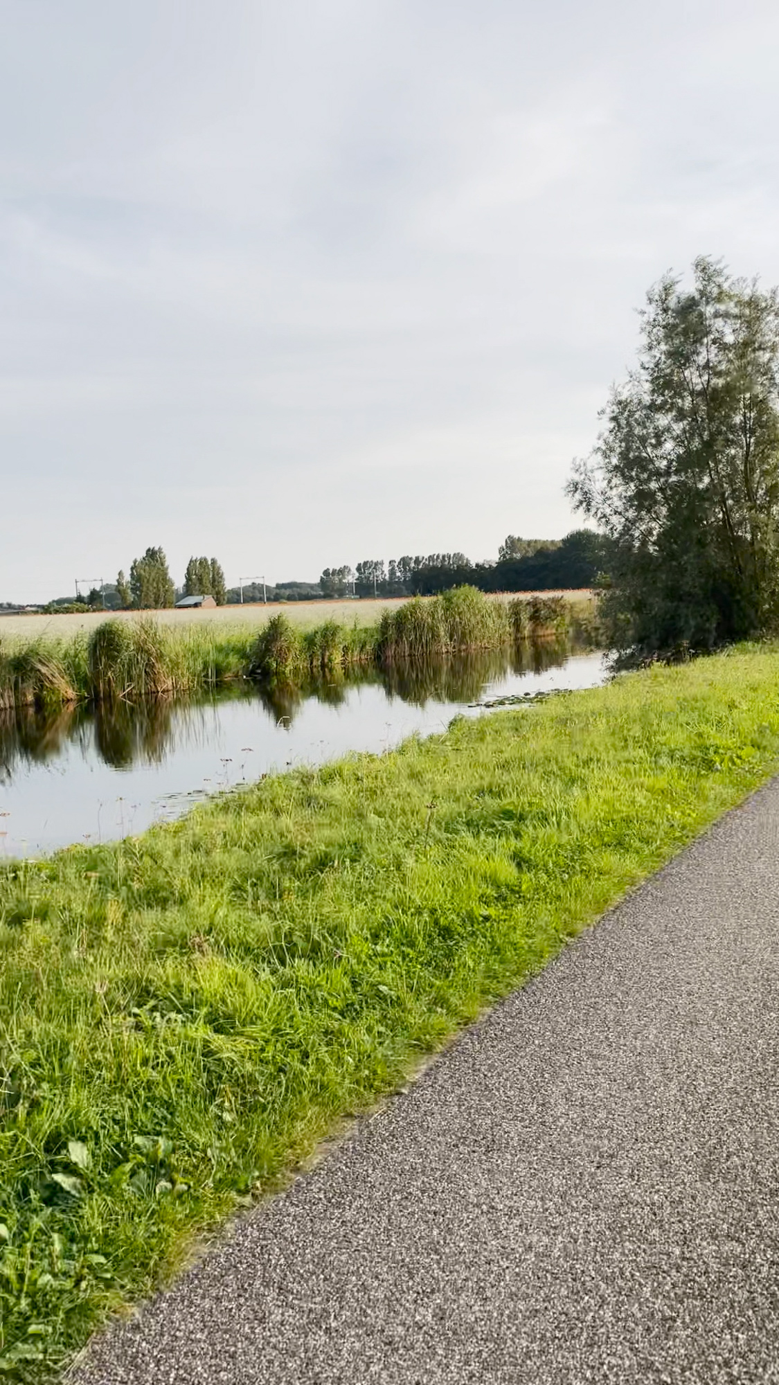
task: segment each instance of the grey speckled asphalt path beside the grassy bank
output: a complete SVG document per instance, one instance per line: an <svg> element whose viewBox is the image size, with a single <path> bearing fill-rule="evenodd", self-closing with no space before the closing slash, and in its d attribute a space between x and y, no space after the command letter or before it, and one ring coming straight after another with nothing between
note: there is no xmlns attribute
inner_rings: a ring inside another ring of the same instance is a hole
<svg viewBox="0 0 779 1385"><path fill-rule="evenodd" d="M778 1078L773 781L71 1378L779 1382Z"/></svg>

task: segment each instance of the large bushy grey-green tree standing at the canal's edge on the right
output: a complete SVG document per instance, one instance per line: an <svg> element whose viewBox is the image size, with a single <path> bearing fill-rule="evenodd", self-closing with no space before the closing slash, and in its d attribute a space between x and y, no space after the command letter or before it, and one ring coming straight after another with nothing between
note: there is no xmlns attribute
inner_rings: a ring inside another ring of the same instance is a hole
<svg viewBox="0 0 779 1385"><path fill-rule="evenodd" d="M609 536L613 643L693 648L779 626L779 299L697 259L640 314L568 493Z"/></svg>

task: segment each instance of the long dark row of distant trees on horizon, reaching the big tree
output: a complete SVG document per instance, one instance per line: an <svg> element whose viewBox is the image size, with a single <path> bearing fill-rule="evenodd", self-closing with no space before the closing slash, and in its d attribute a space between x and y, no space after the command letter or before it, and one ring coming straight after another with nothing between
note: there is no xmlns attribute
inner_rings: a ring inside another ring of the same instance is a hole
<svg viewBox="0 0 779 1385"><path fill-rule="evenodd" d="M366 558L356 568L326 568L319 579L323 597L432 596L467 583L481 591L543 591L588 587L607 558L606 540L590 529L564 539L520 539L507 535L495 562L471 562L464 553L427 557Z"/></svg>

